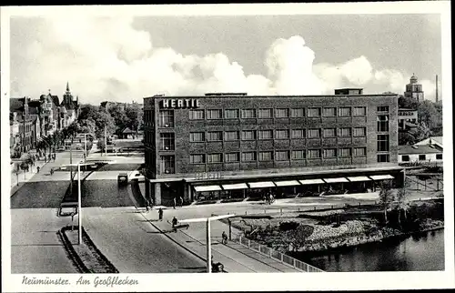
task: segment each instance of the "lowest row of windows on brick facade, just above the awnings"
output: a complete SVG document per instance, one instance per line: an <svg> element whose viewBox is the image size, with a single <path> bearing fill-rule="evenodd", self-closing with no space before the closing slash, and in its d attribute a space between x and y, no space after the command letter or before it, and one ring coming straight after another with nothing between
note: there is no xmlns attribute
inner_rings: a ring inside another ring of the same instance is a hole
<svg viewBox="0 0 455 293"><path fill-rule="evenodd" d="M265 161L288 161L303 160L307 158L335 158L335 157L365 157L366 147L343 147L326 149L301 149L301 150L279 150L279 151L250 151L217 154L193 154L189 156L190 164L213 164L213 163L235 163L240 162L265 162Z"/></svg>

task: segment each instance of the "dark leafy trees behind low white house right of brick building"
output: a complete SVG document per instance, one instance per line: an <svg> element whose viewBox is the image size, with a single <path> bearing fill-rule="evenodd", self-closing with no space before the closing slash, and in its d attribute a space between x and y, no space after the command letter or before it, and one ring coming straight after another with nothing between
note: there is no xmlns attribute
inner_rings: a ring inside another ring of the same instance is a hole
<svg viewBox="0 0 455 293"><path fill-rule="evenodd" d="M399 133L399 145L413 145L430 136L442 136L442 103L399 96L400 108L417 109L419 112L418 126L410 131Z"/></svg>

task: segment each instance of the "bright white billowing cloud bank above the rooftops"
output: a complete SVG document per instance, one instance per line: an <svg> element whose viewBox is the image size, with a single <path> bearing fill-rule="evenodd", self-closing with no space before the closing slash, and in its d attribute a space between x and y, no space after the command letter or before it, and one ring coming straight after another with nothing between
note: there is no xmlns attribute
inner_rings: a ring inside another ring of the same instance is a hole
<svg viewBox="0 0 455 293"><path fill-rule="evenodd" d="M28 45L12 44L13 63L20 64L12 66L13 93L37 97L51 88L60 96L69 81L81 102L99 104L140 101L160 93L320 95L341 86L378 86L381 92L402 93L409 80L408 74L394 69L375 69L367 56L336 65L314 64L316 53L299 35L279 38L269 46L264 59L267 76L247 75L221 52L182 55L170 47L154 47L153 35L133 27L133 20L118 15L56 15L42 20ZM430 81L422 84L434 89Z"/></svg>

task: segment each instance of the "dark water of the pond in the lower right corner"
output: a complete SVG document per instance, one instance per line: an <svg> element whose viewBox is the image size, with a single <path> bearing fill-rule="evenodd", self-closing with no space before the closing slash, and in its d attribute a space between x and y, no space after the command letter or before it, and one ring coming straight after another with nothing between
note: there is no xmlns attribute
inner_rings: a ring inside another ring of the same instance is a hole
<svg viewBox="0 0 455 293"><path fill-rule="evenodd" d="M301 258L329 272L444 270L444 230Z"/></svg>

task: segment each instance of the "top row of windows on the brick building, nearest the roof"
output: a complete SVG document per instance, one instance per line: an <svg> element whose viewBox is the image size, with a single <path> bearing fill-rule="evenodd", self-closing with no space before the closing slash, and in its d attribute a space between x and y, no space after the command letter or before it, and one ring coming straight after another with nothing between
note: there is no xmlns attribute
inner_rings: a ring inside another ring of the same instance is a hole
<svg viewBox="0 0 455 293"><path fill-rule="evenodd" d="M189 111L190 120L203 119L268 119L273 118L275 112L276 118L288 117L320 117L320 116L366 116L366 106L343 106L343 107L308 107L308 108L260 108L260 109L195 109Z"/></svg>

